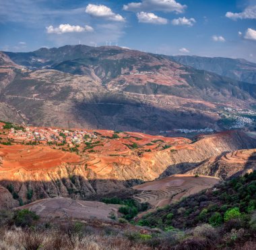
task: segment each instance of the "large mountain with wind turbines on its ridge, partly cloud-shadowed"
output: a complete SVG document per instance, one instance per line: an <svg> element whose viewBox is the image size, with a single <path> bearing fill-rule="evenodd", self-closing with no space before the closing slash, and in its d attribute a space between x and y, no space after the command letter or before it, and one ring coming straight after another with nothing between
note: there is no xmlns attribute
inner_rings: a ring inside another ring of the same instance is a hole
<svg viewBox="0 0 256 250"><path fill-rule="evenodd" d="M224 108L247 110L255 104L253 84L117 46L41 48L5 52L2 58L0 112L8 106L10 121L35 126L154 134L222 130Z"/></svg>

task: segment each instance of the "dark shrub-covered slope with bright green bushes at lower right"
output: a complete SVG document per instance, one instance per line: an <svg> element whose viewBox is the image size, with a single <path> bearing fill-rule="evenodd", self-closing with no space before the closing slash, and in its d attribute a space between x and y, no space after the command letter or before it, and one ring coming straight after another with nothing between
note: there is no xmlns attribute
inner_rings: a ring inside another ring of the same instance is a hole
<svg viewBox="0 0 256 250"><path fill-rule="evenodd" d="M256 209L256 171L216 185L215 190L204 190L171 204L164 209L146 214L138 224L160 227L189 228L203 222L222 226L232 220L245 220ZM172 219L168 218L172 214Z"/></svg>

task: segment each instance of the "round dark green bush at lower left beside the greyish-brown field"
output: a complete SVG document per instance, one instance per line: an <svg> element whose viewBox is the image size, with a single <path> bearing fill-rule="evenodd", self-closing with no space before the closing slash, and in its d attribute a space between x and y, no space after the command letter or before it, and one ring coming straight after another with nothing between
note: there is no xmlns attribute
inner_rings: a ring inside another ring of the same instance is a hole
<svg viewBox="0 0 256 250"><path fill-rule="evenodd" d="M38 220L39 216L28 209L17 210L14 213L13 221L16 226L32 226L35 220Z"/></svg>

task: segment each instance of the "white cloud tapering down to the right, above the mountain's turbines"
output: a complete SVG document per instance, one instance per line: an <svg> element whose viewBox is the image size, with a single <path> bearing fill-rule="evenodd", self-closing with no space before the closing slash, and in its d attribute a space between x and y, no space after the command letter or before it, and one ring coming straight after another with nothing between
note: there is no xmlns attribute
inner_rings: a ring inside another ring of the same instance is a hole
<svg viewBox="0 0 256 250"><path fill-rule="evenodd" d="M125 18L121 15L114 13L110 8L105 5L88 4L86 13L94 17L100 17L115 22L125 22Z"/></svg>

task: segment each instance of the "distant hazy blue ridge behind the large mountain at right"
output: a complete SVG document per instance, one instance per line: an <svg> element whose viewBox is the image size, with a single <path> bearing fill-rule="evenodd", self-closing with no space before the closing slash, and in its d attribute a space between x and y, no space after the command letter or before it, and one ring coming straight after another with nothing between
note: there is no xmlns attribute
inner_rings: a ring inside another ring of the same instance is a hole
<svg viewBox="0 0 256 250"><path fill-rule="evenodd" d="M245 59L203 56L171 56L172 60L195 69L210 71L247 83L256 83L256 64Z"/></svg>

